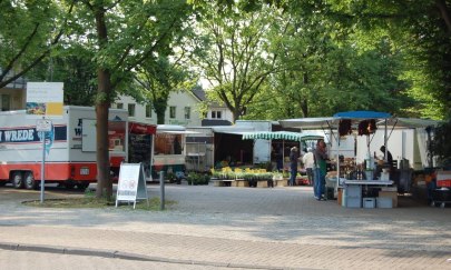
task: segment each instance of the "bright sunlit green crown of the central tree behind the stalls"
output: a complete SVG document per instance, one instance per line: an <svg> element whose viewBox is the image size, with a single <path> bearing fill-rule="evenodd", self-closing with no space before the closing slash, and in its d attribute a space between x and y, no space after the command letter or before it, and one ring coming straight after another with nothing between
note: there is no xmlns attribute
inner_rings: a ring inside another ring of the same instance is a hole
<svg viewBox="0 0 451 270"><path fill-rule="evenodd" d="M190 40L192 60L214 86L208 99L225 104L235 121L274 72L274 56L267 53L267 30L275 23L277 10L262 7L243 12L239 1L229 2L227 8L203 4L198 37Z"/></svg>

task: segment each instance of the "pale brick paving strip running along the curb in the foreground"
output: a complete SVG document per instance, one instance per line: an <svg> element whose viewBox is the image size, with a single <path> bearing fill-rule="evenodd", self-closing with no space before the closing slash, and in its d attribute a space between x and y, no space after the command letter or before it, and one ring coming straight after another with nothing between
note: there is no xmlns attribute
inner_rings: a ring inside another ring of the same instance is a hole
<svg viewBox="0 0 451 270"><path fill-rule="evenodd" d="M0 248L255 269L449 269L450 252L262 242L77 228L1 228ZM58 236L58 238L47 238ZM8 240L8 242L4 242Z"/></svg>

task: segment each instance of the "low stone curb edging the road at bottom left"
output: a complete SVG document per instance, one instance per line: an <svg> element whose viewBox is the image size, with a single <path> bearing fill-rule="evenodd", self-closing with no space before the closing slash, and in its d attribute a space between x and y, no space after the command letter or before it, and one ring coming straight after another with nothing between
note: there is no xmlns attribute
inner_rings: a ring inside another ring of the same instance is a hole
<svg viewBox="0 0 451 270"><path fill-rule="evenodd" d="M141 256L135 253L120 252L117 250L96 250L96 249L81 249L81 248L63 248L57 246L42 246L42 244L18 244L0 242L0 250L10 251L29 251L29 252L47 252L59 254L72 254L72 256L91 256L111 259L135 260L135 261L154 261L166 262L175 264L193 264L193 266L206 266L206 267L222 267L222 268L245 268L245 269L274 269L282 270L286 268L269 267L269 266L253 266L253 264L237 264L237 263L224 263L212 261L193 261L193 260L178 260L163 257Z"/></svg>

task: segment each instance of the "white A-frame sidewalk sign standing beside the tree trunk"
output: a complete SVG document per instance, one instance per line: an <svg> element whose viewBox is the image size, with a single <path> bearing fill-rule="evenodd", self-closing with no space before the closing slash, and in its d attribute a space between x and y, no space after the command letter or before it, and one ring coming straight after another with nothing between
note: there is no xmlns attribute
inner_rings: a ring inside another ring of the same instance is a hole
<svg viewBox="0 0 451 270"><path fill-rule="evenodd" d="M149 207L144 167L141 163L121 163L117 184L116 207L120 201L126 201L128 203L134 202L135 209L137 200L147 200L147 207Z"/></svg>

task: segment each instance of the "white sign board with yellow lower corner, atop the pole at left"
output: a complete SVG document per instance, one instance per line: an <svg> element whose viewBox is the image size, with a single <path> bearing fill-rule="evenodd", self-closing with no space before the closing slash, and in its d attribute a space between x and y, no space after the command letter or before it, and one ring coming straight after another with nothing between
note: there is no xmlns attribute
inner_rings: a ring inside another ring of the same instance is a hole
<svg viewBox="0 0 451 270"><path fill-rule="evenodd" d="M62 82L27 82L28 118L62 118Z"/></svg>

